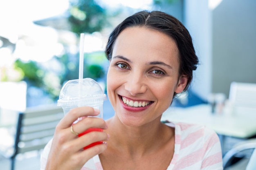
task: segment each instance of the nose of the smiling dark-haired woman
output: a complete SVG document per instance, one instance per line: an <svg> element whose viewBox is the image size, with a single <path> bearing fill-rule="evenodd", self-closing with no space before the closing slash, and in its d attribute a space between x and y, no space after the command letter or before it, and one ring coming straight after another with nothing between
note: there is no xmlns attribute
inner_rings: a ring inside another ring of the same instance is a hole
<svg viewBox="0 0 256 170"><path fill-rule="evenodd" d="M129 91L129 93L133 96L140 93L145 93L147 91L145 78L136 74L130 75L126 81L125 90Z"/></svg>

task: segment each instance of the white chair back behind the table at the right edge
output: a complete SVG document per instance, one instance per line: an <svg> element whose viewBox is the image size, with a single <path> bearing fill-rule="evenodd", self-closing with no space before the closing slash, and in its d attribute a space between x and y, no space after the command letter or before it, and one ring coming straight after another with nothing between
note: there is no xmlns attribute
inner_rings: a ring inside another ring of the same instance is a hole
<svg viewBox="0 0 256 170"><path fill-rule="evenodd" d="M235 113L256 111L256 83L231 82L229 102L234 106Z"/></svg>

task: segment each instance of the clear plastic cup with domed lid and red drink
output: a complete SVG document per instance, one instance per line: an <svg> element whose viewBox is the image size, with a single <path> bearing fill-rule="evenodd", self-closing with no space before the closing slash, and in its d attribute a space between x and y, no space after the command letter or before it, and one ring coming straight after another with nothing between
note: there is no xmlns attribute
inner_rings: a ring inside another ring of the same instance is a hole
<svg viewBox="0 0 256 170"><path fill-rule="evenodd" d="M64 114L67 114L72 108L81 106L90 106L100 110L99 115L95 117L103 118L103 101L106 100L101 86L94 79L73 79L69 80L61 88L57 106L62 106ZM77 121L79 121L78 119ZM75 121L74 123L76 123ZM101 128L89 128L78 136L82 136L92 131L103 131ZM98 141L85 146L84 149L90 148L97 144L102 144L103 141Z"/></svg>

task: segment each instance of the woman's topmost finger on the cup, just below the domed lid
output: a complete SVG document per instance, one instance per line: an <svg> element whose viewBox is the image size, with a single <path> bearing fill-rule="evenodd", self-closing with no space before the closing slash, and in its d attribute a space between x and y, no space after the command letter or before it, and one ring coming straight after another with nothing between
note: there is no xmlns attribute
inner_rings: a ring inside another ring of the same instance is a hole
<svg viewBox="0 0 256 170"><path fill-rule="evenodd" d="M70 127L74 121L76 121L79 117L87 117L87 116L96 116L99 115L99 110L89 107L77 107L70 110L58 124L58 128L67 128Z"/></svg>

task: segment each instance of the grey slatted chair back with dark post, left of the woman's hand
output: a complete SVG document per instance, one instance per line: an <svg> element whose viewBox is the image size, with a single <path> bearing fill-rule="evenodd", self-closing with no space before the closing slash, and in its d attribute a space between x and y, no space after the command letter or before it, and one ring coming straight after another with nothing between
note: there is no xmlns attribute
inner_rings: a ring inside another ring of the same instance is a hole
<svg viewBox="0 0 256 170"><path fill-rule="evenodd" d="M15 168L18 154L45 147L63 115L63 109L56 105L31 107L19 113L14 146L6 148L2 153L4 157L11 159L11 170Z"/></svg>

